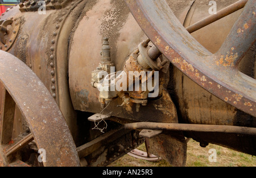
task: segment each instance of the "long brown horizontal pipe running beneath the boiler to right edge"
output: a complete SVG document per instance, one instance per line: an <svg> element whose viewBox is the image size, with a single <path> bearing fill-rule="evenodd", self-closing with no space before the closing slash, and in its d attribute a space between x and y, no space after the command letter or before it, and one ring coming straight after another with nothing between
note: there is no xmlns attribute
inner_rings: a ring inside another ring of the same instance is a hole
<svg viewBox="0 0 256 178"><path fill-rule="evenodd" d="M226 126L226 125L204 125L186 123L158 123L158 122L137 122L127 123L125 129L152 129L152 130L173 130L173 131L196 131L210 133L229 133L256 135L254 127Z"/></svg>

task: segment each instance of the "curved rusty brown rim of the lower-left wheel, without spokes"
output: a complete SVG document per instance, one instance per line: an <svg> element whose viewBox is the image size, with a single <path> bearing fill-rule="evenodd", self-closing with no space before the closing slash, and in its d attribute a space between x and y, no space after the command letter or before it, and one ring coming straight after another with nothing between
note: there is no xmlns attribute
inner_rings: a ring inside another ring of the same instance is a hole
<svg viewBox="0 0 256 178"><path fill-rule="evenodd" d="M79 166L67 123L42 81L22 61L7 52L0 53L0 79L26 118L36 145L46 150L44 165Z"/></svg>

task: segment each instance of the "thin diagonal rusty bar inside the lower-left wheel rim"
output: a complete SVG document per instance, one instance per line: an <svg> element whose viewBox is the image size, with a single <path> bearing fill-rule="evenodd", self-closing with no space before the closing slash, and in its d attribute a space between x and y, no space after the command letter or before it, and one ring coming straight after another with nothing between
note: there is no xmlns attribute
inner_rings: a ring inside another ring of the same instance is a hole
<svg viewBox="0 0 256 178"><path fill-rule="evenodd" d="M24 138L22 138L21 140L19 140L19 142L15 143L13 146L8 148L5 151L6 156L9 156L10 154L13 154L14 152L19 151L24 146L26 146L28 143L32 142L32 140L34 140L34 137L33 137L32 133L30 133L27 136L25 136Z"/></svg>

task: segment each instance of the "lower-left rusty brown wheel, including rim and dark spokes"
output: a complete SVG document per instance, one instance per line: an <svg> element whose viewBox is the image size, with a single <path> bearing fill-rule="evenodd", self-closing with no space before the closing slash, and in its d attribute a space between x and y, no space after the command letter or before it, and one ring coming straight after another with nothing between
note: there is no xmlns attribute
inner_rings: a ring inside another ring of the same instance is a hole
<svg viewBox="0 0 256 178"><path fill-rule="evenodd" d="M0 51L0 166L79 166L67 123L40 79ZM16 121L23 123L21 134ZM26 127L24 127L26 126Z"/></svg>

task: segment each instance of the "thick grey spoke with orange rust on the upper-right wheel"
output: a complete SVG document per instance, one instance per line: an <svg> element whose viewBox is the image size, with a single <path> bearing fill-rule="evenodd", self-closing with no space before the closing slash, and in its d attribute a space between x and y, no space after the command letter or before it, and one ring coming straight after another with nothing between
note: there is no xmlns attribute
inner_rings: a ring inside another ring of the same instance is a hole
<svg viewBox="0 0 256 178"><path fill-rule="evenodd" d="M240 18L234 24L225 42L216 53L216 63L224 67L237 67L245 53L255 42L256 1L248 1Z"/></svg>

